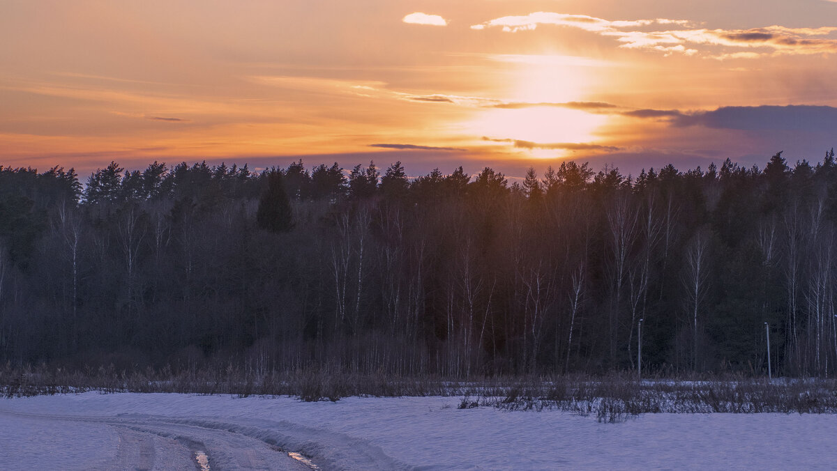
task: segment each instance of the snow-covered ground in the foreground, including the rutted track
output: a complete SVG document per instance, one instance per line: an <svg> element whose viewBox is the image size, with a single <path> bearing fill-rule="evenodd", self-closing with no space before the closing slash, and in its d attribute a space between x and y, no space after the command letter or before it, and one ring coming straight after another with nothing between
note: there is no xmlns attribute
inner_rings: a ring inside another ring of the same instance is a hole
<svg viewBox="0 0 837 471"><path fill-rule="evenodd" d="M459 410L456 397L339 402L179 394L0 399L0 469L837 468L837 416Z"/></svg>

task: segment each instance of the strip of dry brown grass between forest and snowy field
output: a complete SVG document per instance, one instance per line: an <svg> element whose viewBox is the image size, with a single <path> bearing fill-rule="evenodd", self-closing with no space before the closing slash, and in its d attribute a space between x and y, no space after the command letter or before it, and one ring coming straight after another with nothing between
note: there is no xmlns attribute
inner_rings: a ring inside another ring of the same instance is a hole
<svg viewBox="0 0 837 471"><path fill-rule="evenodd" d="M635 381L624 375L481 378L361 375L311 367L257 373L228 365L205 370L116 371L112 366L69 371L46 366L0 367L0 395L78 392L181 392L289 396L302 401L341 397L461 396L460 408L562 410L622 422L642 413L837 413L837 381L701 376Z"/></svg>

